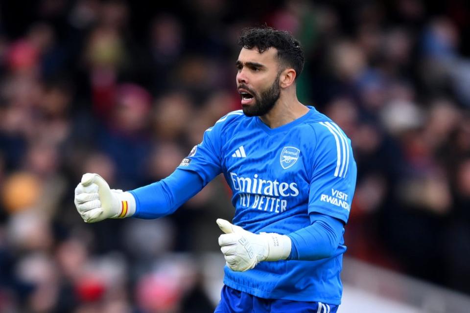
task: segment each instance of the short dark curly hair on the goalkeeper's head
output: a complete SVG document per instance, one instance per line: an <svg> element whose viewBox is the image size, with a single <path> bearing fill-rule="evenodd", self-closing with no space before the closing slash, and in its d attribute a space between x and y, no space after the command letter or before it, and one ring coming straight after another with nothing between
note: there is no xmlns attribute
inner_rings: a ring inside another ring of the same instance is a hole
<svg viewBox="0 0 470 313"><path fill-rule="evenodd" d="M304 68L304 50L299 41L290 33L272 27L243 28L238 38L238 45L246 49L256 48L259 53L273 47L278 50L278 59L282 67L292 67L296 78Z"/></svg>

